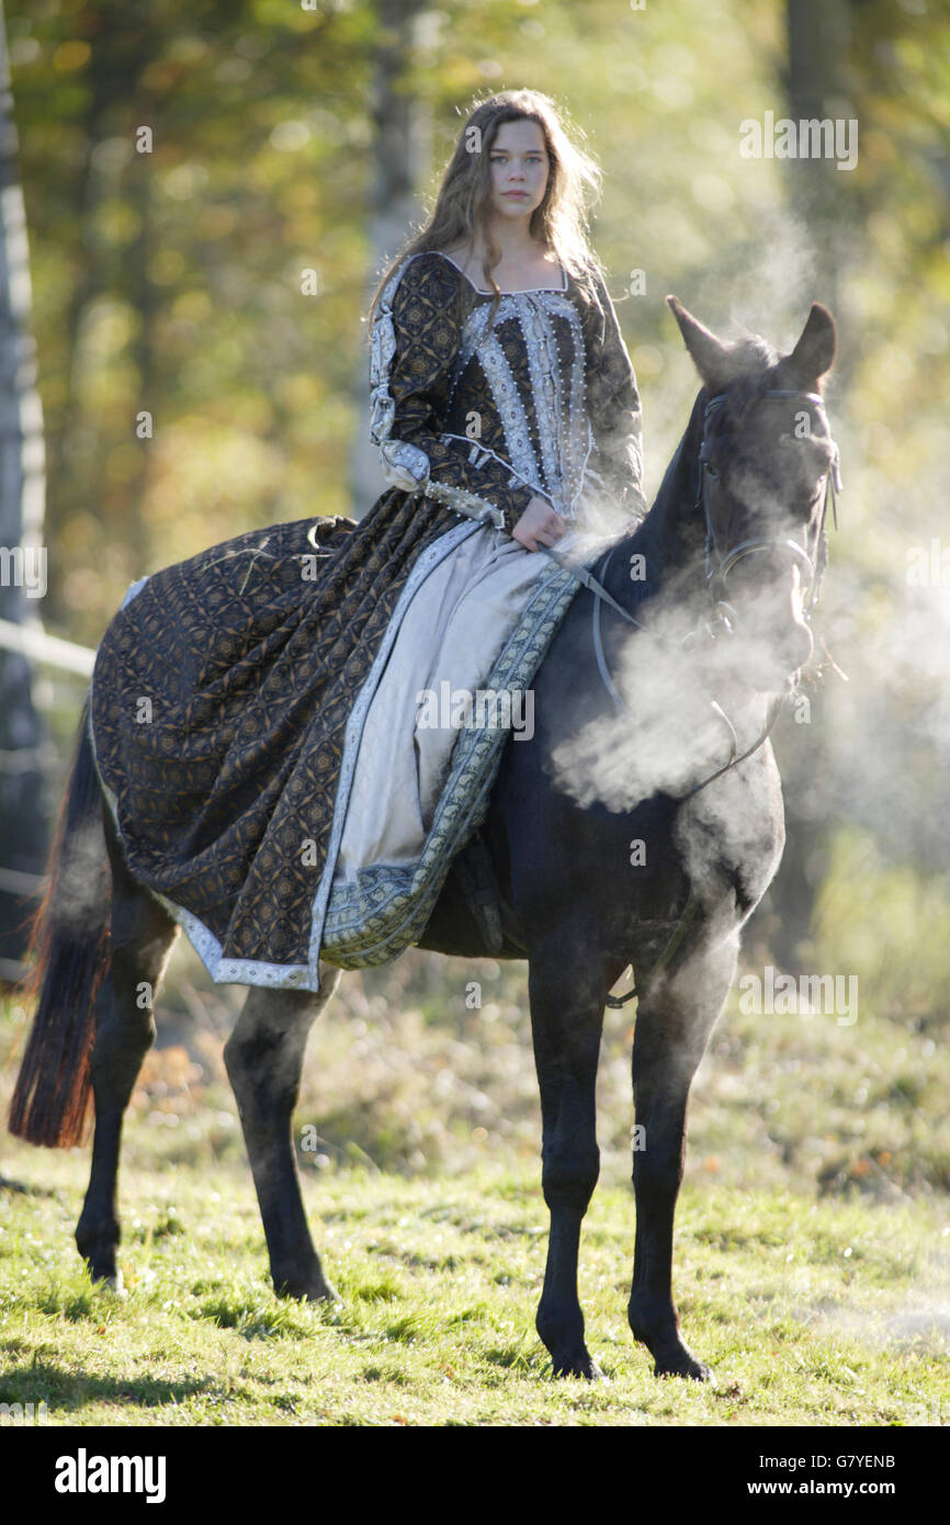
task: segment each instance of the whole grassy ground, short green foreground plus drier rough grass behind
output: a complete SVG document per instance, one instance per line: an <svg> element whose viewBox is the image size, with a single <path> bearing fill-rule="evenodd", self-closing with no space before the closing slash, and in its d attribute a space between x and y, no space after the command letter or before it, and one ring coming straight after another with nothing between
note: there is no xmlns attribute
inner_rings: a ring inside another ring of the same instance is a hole
<svg viewBox="0 0 950 1525"><path fill-rule="evenodd" d="M709 1386L657 1382L627 1327L630 1011L608 1016L601 1185L581 1246L607 1385L534 1331L540 1128L514 971L412 955L351 981L297 1113L332 1308L278 1301L221 1042L236 993L185 962L133 1098L127 1296L72 1234L85 1150L0 1141L0 1403L49 1424L874 1424L950 1420L947 1061L926 1022L723 1017L695 1086L676 1292ZM174 1005L178 1002L175 1014ZM24 1034L0 1023L5 1096ZM939 1063L938 1063L939 1061ZM5 1103L3 1096L3 1103Z"/></svg>

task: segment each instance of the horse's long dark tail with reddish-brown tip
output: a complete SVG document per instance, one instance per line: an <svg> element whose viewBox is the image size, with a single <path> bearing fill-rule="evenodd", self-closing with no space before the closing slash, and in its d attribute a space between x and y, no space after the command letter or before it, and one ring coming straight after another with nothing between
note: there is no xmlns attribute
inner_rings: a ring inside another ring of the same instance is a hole
<svg viewBox="0 0 950 1525"><path fill-rule="evenodd" d="M110 871L102 791L87 729L88 698L32 918L21 990L40 1003L14 1087L9 1130L29 1144L81 1144L90 1118L96 994L110 965Z"/></svg>

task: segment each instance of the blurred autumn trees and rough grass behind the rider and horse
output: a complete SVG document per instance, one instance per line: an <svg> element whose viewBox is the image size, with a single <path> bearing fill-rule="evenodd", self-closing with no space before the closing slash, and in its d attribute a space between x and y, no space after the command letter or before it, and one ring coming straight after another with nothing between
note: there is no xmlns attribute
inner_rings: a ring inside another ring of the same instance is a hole
<svg viewBox="0 0 950 1525"><path fill-rule="evenodd" d="M6 44L17 281L0 336L0 540L46 546L49 587L0 587L0 618L81 647L142 573L374 500L363 313L476 95L549 93L602 166L593 241L640 383L651 491L698 384L665 294L782 349L813 300L831 308L846 491L819 630L849 682L831 673L808 689L808 723L782 721L788 846L744 959L857 974L860 1016L747 1019L733 1000L701 1072L698 1148L714 1173L743 1148L737 1179L950 1188L945 0L8 0ZM765 111L857 120L857 166L741 157L740 122ZM8 976L82 692L79 674L0 648ZM355 1148L421 1170L497 1139L537 1148L520 965L412 952L343 990L311 1043L320 1164ZM241 996L175 955L140 1092L149 1118L175 1127L220 1084ZM616 1148L630 1011L605 1035ZM11 1008L11 1063L23 1022Z"/></svg>

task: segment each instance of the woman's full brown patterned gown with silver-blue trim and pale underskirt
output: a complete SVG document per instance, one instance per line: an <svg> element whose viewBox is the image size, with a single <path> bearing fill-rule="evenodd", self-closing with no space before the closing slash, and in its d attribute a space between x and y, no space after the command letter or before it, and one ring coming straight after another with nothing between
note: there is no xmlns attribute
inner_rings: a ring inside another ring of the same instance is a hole
<svg viewBox="0 0 950 1525"><path fill-rule="evenodd" d="M447 255L409 256L372 328L392 485L371 512L250 531L127 593L93 673L96 764L133 875L215 981L316 990L320 956L381 962L421 933L503 741L418 727L421 691L531 683L576 590L511 537L532 496L578 558L645 508L598 290L602 313L563 270L491 317Z"/></svg>

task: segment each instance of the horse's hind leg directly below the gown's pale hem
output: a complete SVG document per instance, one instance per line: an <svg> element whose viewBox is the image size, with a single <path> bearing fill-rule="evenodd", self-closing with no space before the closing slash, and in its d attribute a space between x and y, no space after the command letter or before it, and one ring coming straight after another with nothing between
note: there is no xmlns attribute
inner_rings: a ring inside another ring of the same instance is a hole
<svg viewBox="0 0 950 1525"><path fill-rule="evenodd" d="M313 1246L293 1145L291 1118L300 1090L307 1037L340 981L320 965L322 990L252 987L224 1046L244 1142L261 1205L274 1290L311 1302L334 1296Z"/></svg>

